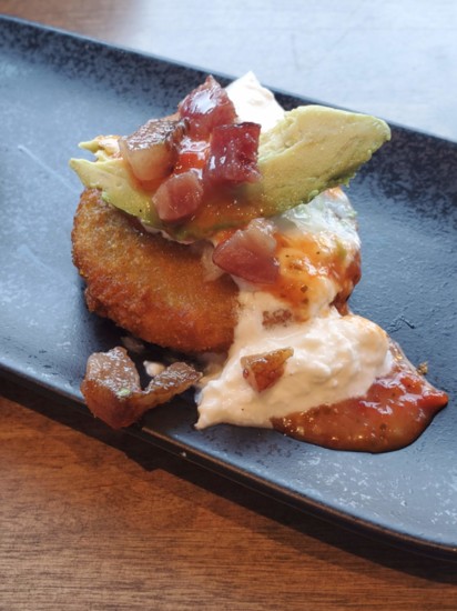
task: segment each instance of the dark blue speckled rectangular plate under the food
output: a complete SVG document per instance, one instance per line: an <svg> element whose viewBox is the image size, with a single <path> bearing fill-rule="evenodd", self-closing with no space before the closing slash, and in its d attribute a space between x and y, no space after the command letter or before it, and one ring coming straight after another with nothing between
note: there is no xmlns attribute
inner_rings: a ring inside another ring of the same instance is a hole
<svg viewBox="0 0 457 611"><path fill-rule="evenodd" d="M77 143L129 133L175 108L203 72L0 18L0 365L82 407L88 355L124 335L91 315L71 261ZM223 83L226 79L221 78ZM278 94L292 108L307 100ZM179 401L132 434L297 508L416 551L457 559L457 146L399 127L353 181L363 280L354 311L382 324L450 395L410 447L335 452L274 431L193 429ZM161 351L151 348L155 357Z"/></svg>

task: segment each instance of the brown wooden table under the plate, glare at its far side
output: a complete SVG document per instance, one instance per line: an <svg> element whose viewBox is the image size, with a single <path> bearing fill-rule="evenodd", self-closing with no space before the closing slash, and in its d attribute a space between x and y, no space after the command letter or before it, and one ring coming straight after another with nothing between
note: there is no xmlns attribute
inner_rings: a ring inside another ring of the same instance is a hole
<svg viewBox="0 0 457 611"><path fill-rule="evenodd" d="M220 58L210 53L211 60L204 53L215 40L221 44L216 26L224 21L225 3L199 3L207 10L204 26L192 22L189 4L175 2L172 10L165 2L139 0L0 1L4 13L175 59L189 61L200 44L201 54L191 58L195 63L203 66L206 57L209 69L258 72L254 57L254 66L240 68L241 56L230 64L224 49ZM299 3L287 3L273 21L264 4L247 3L231 22L234 31L255 38L253 23L257 30L270 23L280 46L287 32L296 40ZM336 4L319 4L321 20L328 11L329 32ZM451 2L438 4L453 10ZM166 28L181 37L170 49ZM189 38L182 39L185 33ZM329 53L344 33L339 28L328 39ZM260 68L265 66L261 56L258 48ZM295 58L296 71L299 61ZM266 68L261 77L287 88L286 78L275 80L274 70L268 74ZM316 79L314 87L318 93ZM354 91L355 100L363 99L362 89ZM430 111L427 123L418 109L409 119L436 132L440 121L441 131L457 137L455 117L438 121L437 116ZM457 563L346 532L110 431L61 403L0 384L1 610L457 608Z"/></svg>

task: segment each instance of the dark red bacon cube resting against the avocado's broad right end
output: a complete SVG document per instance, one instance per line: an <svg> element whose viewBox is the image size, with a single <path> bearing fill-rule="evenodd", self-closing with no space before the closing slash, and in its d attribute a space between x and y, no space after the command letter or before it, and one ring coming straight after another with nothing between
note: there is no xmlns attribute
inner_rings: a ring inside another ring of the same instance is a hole
<svg viewBox="0 0 457 611"><path fill-rule="evenodd" d="M211 136L210 157L204 172L211 182L255 182L260 180L257 149L261 126L219 126Z"/></svg>

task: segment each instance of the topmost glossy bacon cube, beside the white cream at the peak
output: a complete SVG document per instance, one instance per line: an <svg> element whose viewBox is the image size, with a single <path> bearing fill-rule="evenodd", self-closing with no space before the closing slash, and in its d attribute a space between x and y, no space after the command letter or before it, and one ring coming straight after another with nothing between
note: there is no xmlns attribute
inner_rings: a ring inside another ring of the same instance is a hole
<svg viewBox="0 0 457 611"><path fill-rule="evenodd" d="M211 76L184 98L179 111L191 120L190 133L195 139L206 139L216 126L236 120L235 107L226 91Z"/></svg>

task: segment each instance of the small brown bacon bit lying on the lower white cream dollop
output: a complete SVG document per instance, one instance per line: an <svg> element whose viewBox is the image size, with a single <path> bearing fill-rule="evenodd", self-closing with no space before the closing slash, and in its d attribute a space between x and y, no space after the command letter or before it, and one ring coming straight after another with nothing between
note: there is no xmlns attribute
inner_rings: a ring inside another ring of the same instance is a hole
<svg viewBox="0 0 457 611"><path fill-rule="evenodd" d="M282 348L263 354L242 357L243 378L256 391L273 387L284 374L285 362L294 353L292 348Z"/></svg>

